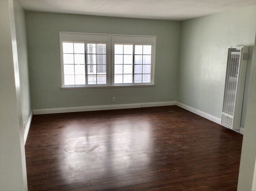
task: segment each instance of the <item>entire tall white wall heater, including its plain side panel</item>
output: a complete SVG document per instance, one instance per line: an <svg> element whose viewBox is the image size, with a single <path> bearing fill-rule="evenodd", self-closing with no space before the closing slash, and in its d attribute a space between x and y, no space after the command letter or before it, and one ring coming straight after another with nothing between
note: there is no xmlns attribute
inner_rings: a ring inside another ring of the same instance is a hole
<svg viewBox="0 0 256 191"><path fill-rule="evenodd" d="M229 47L221 124L240 128L248 47Z"/></svg>

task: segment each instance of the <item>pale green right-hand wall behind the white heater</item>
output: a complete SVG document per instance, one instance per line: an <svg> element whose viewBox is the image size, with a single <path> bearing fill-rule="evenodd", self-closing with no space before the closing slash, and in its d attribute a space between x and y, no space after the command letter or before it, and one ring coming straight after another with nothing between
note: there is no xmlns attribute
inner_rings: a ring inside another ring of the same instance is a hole
<svg viewBox="0 0 256 191"><path fill-rule="evenodd" d="M182 22L178 101L221 118L229 46L253 46L256 6Z"/></svg>

